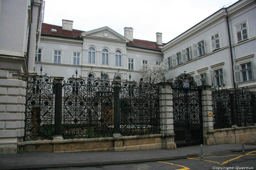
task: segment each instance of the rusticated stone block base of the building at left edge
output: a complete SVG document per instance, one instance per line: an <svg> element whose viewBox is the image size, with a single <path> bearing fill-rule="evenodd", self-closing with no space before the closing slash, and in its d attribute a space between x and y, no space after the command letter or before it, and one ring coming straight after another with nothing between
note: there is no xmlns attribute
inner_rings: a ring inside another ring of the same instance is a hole
<svg viewBox="0 0 256 170"><path fill-rule="evenodd" d="M15 71L18 64L0 65L0 154L17 153L24 136L26 80L23 73ZM13 69L4 69L9 66Z"/></svg>

